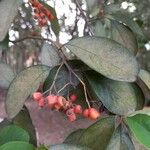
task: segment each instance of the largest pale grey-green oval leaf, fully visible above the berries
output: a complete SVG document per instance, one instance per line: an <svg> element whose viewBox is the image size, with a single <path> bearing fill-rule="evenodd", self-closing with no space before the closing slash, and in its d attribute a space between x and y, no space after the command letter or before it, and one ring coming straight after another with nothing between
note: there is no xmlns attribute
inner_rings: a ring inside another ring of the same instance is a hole
<svg viewBox="0 0 150 150"><path fill-rule="evenodd" d="M124 46L104 37L82 37L65 45L89 67L104 76L133 82L139 65L136 57Z"/></svg>

